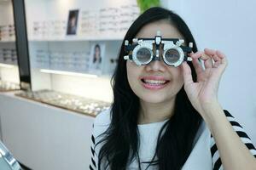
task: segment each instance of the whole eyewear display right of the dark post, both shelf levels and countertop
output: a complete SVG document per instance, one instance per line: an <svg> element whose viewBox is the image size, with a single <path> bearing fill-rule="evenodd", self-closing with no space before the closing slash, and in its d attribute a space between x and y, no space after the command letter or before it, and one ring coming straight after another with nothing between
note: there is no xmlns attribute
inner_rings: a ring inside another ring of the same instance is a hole
<svg viewBox="0 0 256 170"><path fill-rule="evenodd" d="M137 1L25 0L25 7L32 92L16 95L90 116L107 109Z"/></svg>

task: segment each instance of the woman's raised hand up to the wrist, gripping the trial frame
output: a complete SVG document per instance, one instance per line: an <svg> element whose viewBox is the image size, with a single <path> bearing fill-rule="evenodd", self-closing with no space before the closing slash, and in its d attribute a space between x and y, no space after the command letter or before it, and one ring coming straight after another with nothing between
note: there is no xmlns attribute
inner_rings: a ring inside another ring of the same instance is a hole
<svg viewBox="0 0 256 170"><path fill-rule="evenodd" d="M183 62L184 89L195 110L204 117L207 109L218 104L218 85L227 66L227 59L220 51L207 48L204 52L196 52L189 56L193 59L197 81L193 82L191 69L187 62ZM202 59L205 69L199 58Z"/></svg>

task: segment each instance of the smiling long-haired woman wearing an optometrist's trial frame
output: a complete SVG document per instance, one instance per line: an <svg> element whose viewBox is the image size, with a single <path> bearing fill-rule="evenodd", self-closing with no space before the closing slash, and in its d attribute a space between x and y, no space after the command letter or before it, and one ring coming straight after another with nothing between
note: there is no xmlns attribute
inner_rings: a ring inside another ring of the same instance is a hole
<svg viewBox="0 0 256 170"><path fill-rule="evenodd" d="M143 41L151 41L147 48L152 53L129 52L146 47ZM168 50L174 53L166 55ZM181 62L169 65L168 56ZM94 122L90 169L255 169L251 140L218 103L226 66L218 50L197 52L189 27L177 14L165 8L141 14L120 49L113 105Z"/></svg>

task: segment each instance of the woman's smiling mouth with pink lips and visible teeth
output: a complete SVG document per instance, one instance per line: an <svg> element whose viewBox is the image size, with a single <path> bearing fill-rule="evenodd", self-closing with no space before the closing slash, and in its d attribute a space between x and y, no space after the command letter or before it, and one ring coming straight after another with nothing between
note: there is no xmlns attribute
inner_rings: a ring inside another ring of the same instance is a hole
<svg viewBox="0 0 256 170"><path fill-rule="evenodd" d="M143 87L151 90L165 88L170 80L165 77L141 77Z"/></svg>

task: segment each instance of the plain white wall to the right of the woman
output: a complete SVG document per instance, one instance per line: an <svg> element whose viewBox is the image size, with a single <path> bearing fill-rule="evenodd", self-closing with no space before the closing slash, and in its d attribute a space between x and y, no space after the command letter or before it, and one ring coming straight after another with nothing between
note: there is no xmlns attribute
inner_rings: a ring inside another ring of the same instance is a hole
<svg viewBox="0 0 256 170"><path fill-rule="evenodd" d="M164 7L182 16L200 50L219 49L227 55L218 98L256 144L256 1L171 0Z"/></svg>

